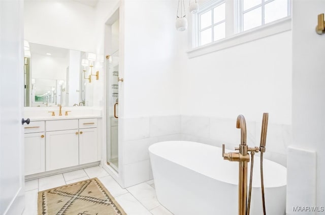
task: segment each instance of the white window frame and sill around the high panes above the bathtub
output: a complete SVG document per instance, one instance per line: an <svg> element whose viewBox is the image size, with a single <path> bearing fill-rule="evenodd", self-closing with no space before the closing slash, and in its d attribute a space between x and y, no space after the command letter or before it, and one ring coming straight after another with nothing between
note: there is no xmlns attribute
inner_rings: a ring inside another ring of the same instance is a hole
<svg viewBox="0 0 325 215"><path fill-rule="evenodd" d="M264 0L262 0L264 1ZM267 3L270 3L275 0L266 0ZM287 0L287 10L288 16L281 19L269 22L264 25L259 25L257 27L245 30L243 32L238 32L238 23L240 22L238 7L241 7L242 0L226 0L226 1L215 1L211 0L206 2L200 7L200 12L197 14L192 14L191 16L191 36L192 40L189 43L189 50L186 51L189 58L204 55L207 53L215 52L225 48L237 46L243 43L247 43L253 40L258 40L265 38L271 35L279 34L291 30L291 1ZM198 14L201 14L202 11L212 10L217 3L222 4L225 2L225 38L213 41L205 45L199 45L199 24L198 23Z"/></svg>

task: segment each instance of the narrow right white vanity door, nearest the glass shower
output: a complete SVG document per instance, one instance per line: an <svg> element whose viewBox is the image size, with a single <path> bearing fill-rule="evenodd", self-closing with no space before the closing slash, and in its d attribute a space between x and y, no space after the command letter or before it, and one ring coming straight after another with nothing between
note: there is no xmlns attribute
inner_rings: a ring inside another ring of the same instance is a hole
<svg viewBox="0 0 325 215"><path fill-rule="evenodd" d="M79 164L100 160L97 128L79 129Z"/></svg>

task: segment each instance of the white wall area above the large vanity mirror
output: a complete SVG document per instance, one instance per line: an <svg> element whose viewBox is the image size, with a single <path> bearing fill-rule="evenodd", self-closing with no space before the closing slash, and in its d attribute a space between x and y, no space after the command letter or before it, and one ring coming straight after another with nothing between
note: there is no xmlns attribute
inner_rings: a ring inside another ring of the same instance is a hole
<svg viewBox="0 0 325 215"><path fill-rule="evenodd" d="M75 1L24 1L24 38L81 51L95 51L94 8Z"/></svg>

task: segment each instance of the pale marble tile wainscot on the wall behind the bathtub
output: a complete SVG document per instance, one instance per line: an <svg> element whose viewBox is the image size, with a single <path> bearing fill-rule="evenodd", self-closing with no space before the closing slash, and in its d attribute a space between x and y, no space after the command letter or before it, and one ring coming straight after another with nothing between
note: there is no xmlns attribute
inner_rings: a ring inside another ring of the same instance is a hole
<svg viewBox="0 0 325 215"><path fill-rule="evenodd" d="M234 149L240 143L240 130L236 129L236 118L173 115L120 120L123 128L122 171L125 187L153 178L148 151L148 147L153 143L186 140L218 147L224 143L228 149ZM247 144L259 146L262 122L246 121L246 127ZM291 125L272 124L269 121L267 152L264 157L286 166L286 148L291 142Z"/></svg>

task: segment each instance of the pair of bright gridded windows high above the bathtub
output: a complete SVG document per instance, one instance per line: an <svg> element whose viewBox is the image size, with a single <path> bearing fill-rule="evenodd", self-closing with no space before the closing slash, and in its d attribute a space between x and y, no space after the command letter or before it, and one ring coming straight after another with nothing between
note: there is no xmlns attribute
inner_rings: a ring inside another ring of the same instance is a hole
<svg viewBox="0 0 325 215"><path fill-rule="evenodd" d="M192 48L208 44L220 44L230 42L227 38L235 41L233 36L250 30L250 32L261 31L263 25L275 25L279 22L280 27L274 32L260 34L261 37L267 34L276 34L287 30L289 25L286 20L290 20L290 1L291 0L211 0L203 5L197 14L192 16ZM256 29L256 30L255 30ZM256 39L258 36L254 36ZM252 37L253 38L253 37ZM222 42L221 42L222 41ZM249 41L249 39L241 40ZM238 42L243 43L243 42ZM233 46L236 43L231 43ZM229 45L225 45L229 46ZM223 47L225 47L223 46ZM211 52L212 49L209 49ZM203 53L203 52L201 52Z"/></svg>

